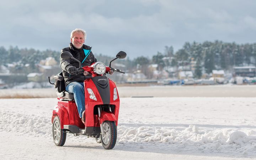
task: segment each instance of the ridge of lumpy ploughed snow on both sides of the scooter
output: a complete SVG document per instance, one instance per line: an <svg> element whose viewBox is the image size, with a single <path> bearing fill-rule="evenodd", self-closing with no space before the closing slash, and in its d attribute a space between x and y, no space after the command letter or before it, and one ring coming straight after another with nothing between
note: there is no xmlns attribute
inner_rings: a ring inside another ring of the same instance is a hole
<svg viewBox="0 0 256 160"><path fill-rule="evenodd" d="M21 113L0 112L0 130L17 135L52 137L51 118ZM136 126L136 125L134 125ZM255 153L256 132L243 132L230 129L203 129L196 125L188 127L138 126L130 127L120 124L117 127L117 145L172 144L178 148L191 148L202 152L217 153ZM71 134L69 137L73 136ZM256 155L256 154L255 154Z"/></svg>

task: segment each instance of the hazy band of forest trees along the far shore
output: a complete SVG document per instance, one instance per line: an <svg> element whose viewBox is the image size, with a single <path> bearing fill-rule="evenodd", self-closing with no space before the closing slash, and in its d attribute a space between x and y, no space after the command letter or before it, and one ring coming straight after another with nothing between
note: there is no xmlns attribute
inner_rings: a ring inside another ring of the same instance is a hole
<svg viewBox="0 0 256 160"><path fill-rule="evenodd" d="M15 64L13 73L38 72L35 64L47 57L54 57L59 62L60 52L21 48L10 46L8 49L0 47L0 66L8 63ZM106 65L114 57L102 54L95 54L97 61ZM119 62L118 62L119 61ZM256 65L256 43L236 44L222 41L186 42L181 49L174 52L172 46L165 46L163 53L157 52L151 58L139 56L134 59L119 59L116 63L125 64L128 72L136 69L145 69L149 64L158 64L158 70L165 69L166 66L190 66L194 68L195 78L200 78L202 73L211 73L213 69L232 70L234 66ZM29 68L23 67L29 64Z"/></svg>

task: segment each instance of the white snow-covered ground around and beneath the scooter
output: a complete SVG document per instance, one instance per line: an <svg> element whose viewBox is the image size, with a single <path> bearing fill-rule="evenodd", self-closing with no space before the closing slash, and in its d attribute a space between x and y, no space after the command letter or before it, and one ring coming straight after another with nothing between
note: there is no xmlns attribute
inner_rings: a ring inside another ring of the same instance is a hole
<svg viewBox="0 0 256 160"><path fill-rule="evenodd" d="M121 98L112 150L52 139L56 98L0 99L0 159L255 159L255 97Z"/></svg>

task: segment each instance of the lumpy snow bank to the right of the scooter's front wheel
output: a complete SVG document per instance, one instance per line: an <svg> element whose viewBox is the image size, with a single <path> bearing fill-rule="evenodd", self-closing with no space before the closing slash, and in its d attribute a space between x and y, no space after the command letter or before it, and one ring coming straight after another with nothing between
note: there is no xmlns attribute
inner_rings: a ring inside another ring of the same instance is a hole
<svg viewBox="0 0 256 160"><path fill-rule="evenodd" d="M253 134L253 135L252 135ZM200 129L195 125L181 127L118 127L118 143L162 143L166 147L194 148L202 152L255 153L256 133L234 130ZM256 155L256 154L255 154Z"/></svg>

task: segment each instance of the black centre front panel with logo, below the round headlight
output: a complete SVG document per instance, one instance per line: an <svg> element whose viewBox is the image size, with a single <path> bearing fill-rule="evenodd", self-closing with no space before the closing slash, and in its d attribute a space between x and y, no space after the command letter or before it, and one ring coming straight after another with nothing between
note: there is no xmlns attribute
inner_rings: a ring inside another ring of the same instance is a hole
<svg viewBox="0 0 256 160"><path fill-rule="evenodd" d="M91 78L100 93L103 104L110 104L110 86L106 76L96 76Z"/></svg>

